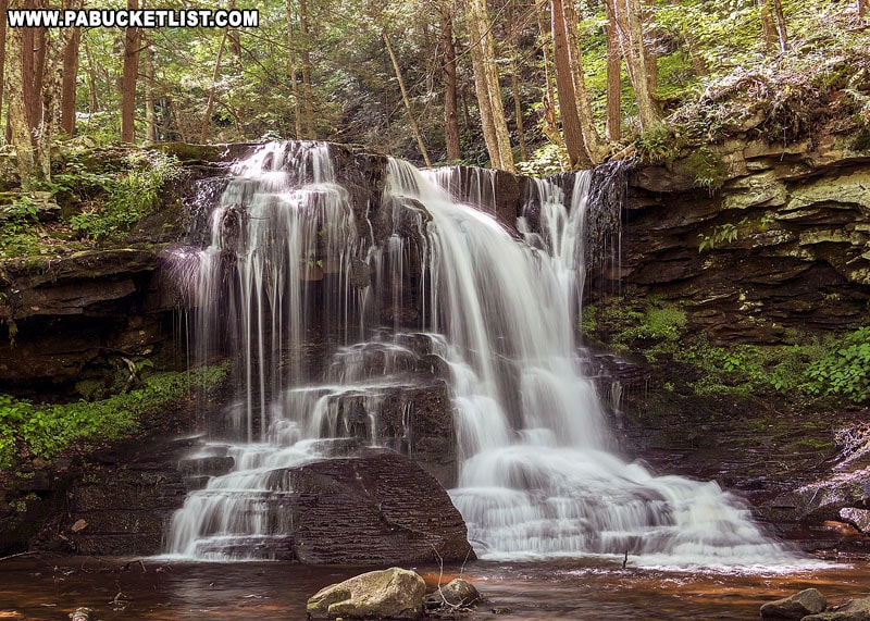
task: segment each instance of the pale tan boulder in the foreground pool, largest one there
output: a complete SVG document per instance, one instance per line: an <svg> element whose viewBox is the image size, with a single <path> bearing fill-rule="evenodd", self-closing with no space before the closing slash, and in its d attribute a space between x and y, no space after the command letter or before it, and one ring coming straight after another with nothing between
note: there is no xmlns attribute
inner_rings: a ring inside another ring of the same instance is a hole
<svg viewBox="0 0 870 621"><path fill-rule="evenodd" d="M425 594L420 575L393 567L320 589L307 611L309 619L420 619Z"/></svg>

